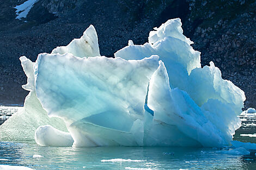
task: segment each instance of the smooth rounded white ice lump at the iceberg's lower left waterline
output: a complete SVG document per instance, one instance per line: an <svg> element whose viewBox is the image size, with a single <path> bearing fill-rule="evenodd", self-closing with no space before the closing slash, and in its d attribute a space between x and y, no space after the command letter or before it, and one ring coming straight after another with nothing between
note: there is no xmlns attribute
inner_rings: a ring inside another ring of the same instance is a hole
<svg viewBox="0 0 256 170"><path fill-rule="evenodd" d="M70 133L60 131L51 125L42 125L35 131L35 142L40 146L68 147L72 146L74 140Z"/></svg>

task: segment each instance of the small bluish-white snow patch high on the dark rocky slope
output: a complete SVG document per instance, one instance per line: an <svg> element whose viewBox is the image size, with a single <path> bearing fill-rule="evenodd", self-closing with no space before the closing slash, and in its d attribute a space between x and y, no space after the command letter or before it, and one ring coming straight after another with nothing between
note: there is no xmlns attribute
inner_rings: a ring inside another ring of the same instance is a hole
<svg viewBox="0 0 256 170"><path fill-rule="evenodd" d="M21 20L21 18L26 18L28 15L28 12L31 10L31 8L34 6L36 2L39 0L28 0L25 1L24 3L17 5L14 7L16 9L16 19Z"/></svg>

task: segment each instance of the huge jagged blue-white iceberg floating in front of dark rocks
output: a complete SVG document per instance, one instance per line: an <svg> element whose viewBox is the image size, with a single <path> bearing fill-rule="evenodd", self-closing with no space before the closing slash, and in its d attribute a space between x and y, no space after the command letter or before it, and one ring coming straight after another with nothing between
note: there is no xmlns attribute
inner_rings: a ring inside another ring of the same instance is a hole
<svg viewBox="0 0 256 170"><path fill-rule="evenodd" d="M213 62L201 68L191 43L174 19L150 32L149 43L129 41L115 58L99 56L93 26L68 46L39 54L34 64L22 57L28 77L23 88L40 101L35 115L45 109L61 118L72 136L59 131L65 131L59 119L42 117L36 125L59 130L40 127L36 141L56 146L49 138L59 135L66 140L61 146L74 140L76 147L230 145L245 95L221 78ZM0 130L10 128L11 119Z"/></svg>

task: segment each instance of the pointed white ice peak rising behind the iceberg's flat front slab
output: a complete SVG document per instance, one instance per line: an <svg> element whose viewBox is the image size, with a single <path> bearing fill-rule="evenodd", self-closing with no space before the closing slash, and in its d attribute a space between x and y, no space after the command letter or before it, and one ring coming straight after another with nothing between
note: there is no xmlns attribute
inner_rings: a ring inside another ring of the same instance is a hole
<svg viewBox="0 0 256 170"><path fill-rule="evenodd" d="M53 49L52 54L56 53L71 53L79 57L100 56L97 33L93 25L86 29L80 39L72 40L68 46Z"/></svg>

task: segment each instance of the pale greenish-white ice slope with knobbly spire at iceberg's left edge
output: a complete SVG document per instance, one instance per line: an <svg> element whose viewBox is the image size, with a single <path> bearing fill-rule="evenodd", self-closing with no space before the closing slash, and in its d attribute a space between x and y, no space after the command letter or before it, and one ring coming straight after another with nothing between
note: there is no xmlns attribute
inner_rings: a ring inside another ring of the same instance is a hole
<svg viewBox="0 0 256 170"><path fill-rule="evenodd" d="M42 108L35 95L33 62L25 56L21 56L21 65L28 80L23 89L30 91L25 99L23 108L7 119L0 126L0 141L34 142L35 130L40 125L50 124L62 131L67 131L66 125L60 118L50 118Z"/></svg>

